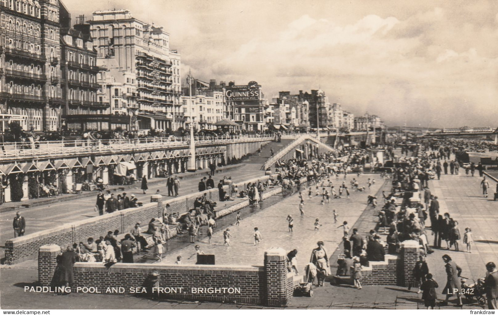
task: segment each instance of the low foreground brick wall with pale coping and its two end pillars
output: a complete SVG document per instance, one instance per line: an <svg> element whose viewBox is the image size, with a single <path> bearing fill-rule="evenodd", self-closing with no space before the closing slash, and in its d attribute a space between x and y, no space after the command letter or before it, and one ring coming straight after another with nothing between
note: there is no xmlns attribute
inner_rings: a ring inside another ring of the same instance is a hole
<svg viewBox="0 0 498 315"><path fill-rule="evenodd" d="M50 285L57 265L55 257L59 252L59 247L53 244L40 248L38 277L43 286ZM155 271L160 275L159 287L164 289L159 293L162 299L281 307L287 304L298 280L288 276L286 265L285 250L282 248L268 249L264 255L264 266L117 263L106 267L103 263L76 263L73 269L75 283L71 291L106 295L147 294L141 288L147 287L146 278ZM92 291L84 291L89 288L93 288ZM213 291L226 288L226 292L199 292L199 288L213 288Z"/></svg>

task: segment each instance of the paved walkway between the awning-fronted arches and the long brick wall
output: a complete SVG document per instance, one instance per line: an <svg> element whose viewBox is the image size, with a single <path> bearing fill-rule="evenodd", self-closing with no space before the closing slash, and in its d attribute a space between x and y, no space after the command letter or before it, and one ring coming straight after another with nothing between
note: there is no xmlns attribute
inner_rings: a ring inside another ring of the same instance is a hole
<svg viewBox="0 0 498 315"><path fill-rule="evenodd" d="M213 176L213 179L215 181L215 184L217 184L220 179L223 179L224 176L231 176L234 182L238 182L261 175L264 175L264 171L259 170L259 166L257 164L245 164L240 168L216 173ZM199 191L198 182L200 181L202 176L205 176L205 170L197 176L189 176L181 180L179 195L182 196ZM121 185L112 187L119 186ZM126 186L124 187L126 188ZM166 178L161 178L154 181L151 180L148 183L148 188L149 189L146 191L146 194L143 194L142 190L140 189L140 185L135 185L134 188L125 189L124 191L113 191L113 193L115 196L123 192L126 192L128 196L131 194L135 194L139 202L148 203L150 202L150 196L155 194L156 190L159 189L161 194L163 195L164 202L167 202L168 199L174 198L167 195ZM98 216L98 212L95 212L94 210L96 196L96 194L91 194L88 197L80 199L46 204L34 208L16 209L16 211L19 211L26 220L25 235L27 235L29 233L35 233L44 229L52 228L56 224L70 223ZM5 241L7 239L10 239L14 236L12 229L12 220L14 216L15 211L0 213L1 245L5 244ZM3 257L3 251L3 246L0 246L0 257Z"/></svg>

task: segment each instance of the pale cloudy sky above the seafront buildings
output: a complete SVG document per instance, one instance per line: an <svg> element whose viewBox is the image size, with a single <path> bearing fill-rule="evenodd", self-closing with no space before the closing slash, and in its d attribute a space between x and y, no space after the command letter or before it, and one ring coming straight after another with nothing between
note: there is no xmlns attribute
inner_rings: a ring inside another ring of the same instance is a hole
<svg viewBox="0 0 498 315"><path fill-rule="evenodd" d="M498 127L495 0L62 0L73 17L128 9L170 34L183 73L322 89L389 126Z"/></svg>

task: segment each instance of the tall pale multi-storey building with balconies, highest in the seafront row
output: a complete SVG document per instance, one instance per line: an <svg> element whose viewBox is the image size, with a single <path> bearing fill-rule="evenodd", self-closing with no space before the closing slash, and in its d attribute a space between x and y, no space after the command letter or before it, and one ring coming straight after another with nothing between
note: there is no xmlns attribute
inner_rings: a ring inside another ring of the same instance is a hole
<svg viewBox="0 0 498 315"><path fill-rule="evenodd" d="M182 106L179 95L175 95L175 88L178 93L181 83L181 56L176 51L171 52L169 34L162 27L134 18L128 10L97 11L89 23L97 49L97 64L110 71L114 81L110 83L126 89L125 92L119 87L111 87L118 89L118 98L121 92L123 100L126 99L122 104L126 104L127 114L133 116L131 129L175 128L174 113L181 113L178 109ZM135 79L130 78L132 73L136 74ZM105 77L103 82L107 80ZM130 83L125 81L128 78ZM178 106L174 105L175 100Z"/></svg>

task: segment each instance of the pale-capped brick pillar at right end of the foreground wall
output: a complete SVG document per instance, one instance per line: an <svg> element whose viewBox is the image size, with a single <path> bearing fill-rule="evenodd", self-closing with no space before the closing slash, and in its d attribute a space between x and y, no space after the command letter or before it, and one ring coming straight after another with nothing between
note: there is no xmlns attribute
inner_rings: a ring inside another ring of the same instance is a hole
<svg viewBox="0 0 498 315"><path fill-rule="evenodd" d="M266 304L278 307L287 305L287 258L283 248L271 247L264 252L264 272Z"/></svg>

